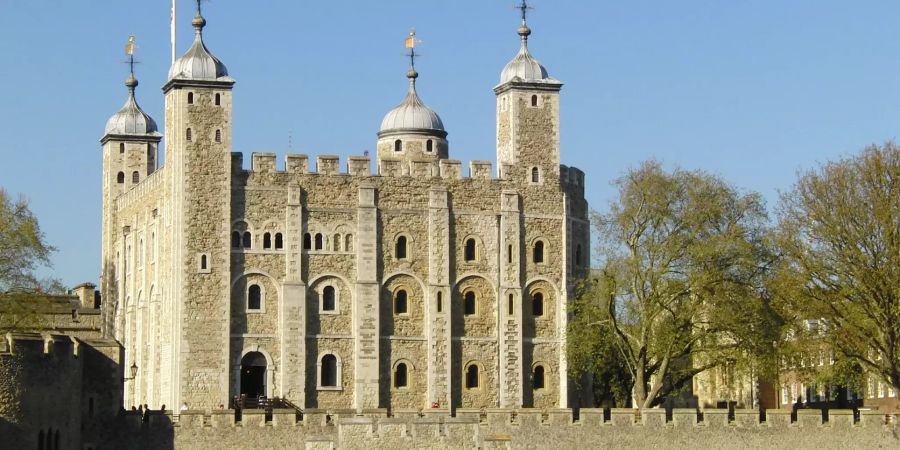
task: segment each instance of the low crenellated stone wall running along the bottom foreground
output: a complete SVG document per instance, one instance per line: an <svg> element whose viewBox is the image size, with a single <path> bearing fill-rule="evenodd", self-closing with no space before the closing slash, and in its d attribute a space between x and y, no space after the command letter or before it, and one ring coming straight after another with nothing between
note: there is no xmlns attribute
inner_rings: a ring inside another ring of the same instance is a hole
<svg viewBox="0 0 900 450"><path fill-rule="evenodd" d="M153 415L141 422L122 417L119 433L98 448L138 449L519 449L519 448L794 448L852 449L900 446L898 416L864 413L855 421L852 411L833 410L828 421L820 411L801 410L792 421L790 411L771 410L764 420L757 411L583 409L577 419L571 410L458 410L447 412L380 412L363 415L275 410L245 411L235 422L234 411L204 414L186 411L178 417Z"/></svg>

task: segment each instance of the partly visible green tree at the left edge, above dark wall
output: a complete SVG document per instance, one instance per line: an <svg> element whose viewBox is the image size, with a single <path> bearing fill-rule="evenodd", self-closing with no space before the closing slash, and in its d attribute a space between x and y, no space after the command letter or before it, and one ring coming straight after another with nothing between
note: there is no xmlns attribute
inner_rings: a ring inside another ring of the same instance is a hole
<svg viewBox="0 0 900 450"><path fill-rule="evenodd" d="M0 188L0 293L40 286L35 269L50 264L55 249L44 241L37 218L24 198L13 201Z"/></svg>

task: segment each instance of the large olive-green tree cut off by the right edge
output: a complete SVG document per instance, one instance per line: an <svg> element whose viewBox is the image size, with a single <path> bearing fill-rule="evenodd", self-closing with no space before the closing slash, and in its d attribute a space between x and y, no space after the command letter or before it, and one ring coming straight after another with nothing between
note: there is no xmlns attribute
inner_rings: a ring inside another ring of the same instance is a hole
<svg viewBox="0 0 900 450"><path fill-rule="evenodd" d="M797 336L814 329L836 360L900 391L900 148L802 173L782 195L777 244Z"/></svg>

